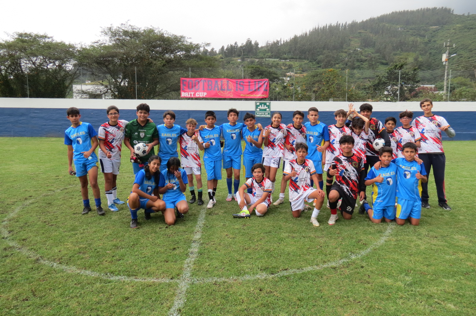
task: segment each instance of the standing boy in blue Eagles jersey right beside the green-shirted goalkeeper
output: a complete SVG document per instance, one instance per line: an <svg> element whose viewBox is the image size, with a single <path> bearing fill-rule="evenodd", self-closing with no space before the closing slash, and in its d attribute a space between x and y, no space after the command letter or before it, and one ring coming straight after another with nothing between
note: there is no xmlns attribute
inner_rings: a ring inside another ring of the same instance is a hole
<svg viewBox="0 0 476 316"><path fill-rule="evenodd" d="M173 111L164 112L164 124L157 125L159 132L159 157L162 159L160 171L167 169L167 162L170 157L178 157L177 141L178 136L187 133L187 129L176 125L175 113Z"/></svg>

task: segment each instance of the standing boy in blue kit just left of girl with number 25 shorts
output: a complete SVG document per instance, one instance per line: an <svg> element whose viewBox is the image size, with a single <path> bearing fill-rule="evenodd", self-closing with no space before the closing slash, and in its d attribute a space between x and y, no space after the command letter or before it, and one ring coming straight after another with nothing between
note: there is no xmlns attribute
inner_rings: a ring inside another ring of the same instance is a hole
<svg viewBox="0 0 476 316"><path fill-rule="evenodd" d="M253 165L256 163L261 163L263 157L263 129L258 130L256 127L256 118L255 115L251 113L246 113L243 117L245 125L241 132L243 139L245 140L245 152L243 153L243 165L245 166L245 178L248 181L249 178L253 177L253 172L251 171ZM248 188L248 193L253 192L252 188Z"/></svg>

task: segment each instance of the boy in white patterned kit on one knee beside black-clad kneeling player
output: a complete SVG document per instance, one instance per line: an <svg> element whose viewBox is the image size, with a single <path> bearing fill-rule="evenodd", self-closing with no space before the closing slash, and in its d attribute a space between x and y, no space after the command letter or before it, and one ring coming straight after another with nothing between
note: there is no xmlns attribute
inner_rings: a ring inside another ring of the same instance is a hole
<svg viewBox="0 0 476 316"><path fill-rule="evenodd" d="M289 180L289 201L293 217L299 217L304 210L304 202L316 199L316 206L311 215L311 223L319 226L317 215L324 201L324 192L311 186L311 179L317 183L316 169L312 160L306 159L307 144L296 143L296 159L289 161L283 171L286 181Z"/></svg>

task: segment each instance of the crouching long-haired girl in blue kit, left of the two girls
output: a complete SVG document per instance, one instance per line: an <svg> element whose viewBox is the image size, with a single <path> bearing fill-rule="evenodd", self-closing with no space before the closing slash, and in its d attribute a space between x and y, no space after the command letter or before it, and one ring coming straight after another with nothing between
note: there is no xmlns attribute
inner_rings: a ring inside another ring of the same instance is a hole
<svg viewBox="0 0 476 316"><path fill-rule="evenodd" d="M160 182L164 182L163 176L160 173L160 158L155 155L150 156L148 164L136 174L132 192L130 192L127 199L127 206L129 206L132 218L130 228L139 226L137 220L137 211L139 209L145 210L146 220L150 219L150 213L163 212L165 210L165 202L159 199Z"/></svg>

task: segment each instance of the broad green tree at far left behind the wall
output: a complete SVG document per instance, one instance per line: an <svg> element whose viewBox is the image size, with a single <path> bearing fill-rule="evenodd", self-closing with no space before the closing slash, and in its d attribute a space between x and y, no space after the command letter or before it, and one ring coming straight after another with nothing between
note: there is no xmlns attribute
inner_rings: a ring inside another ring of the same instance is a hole
<svg viewBox="0 0 476 316"><path fill-rule="evenodd" d="M14 33L0 42L0 96L65 98L73 80L77 49L46 34Z"/></svg>

